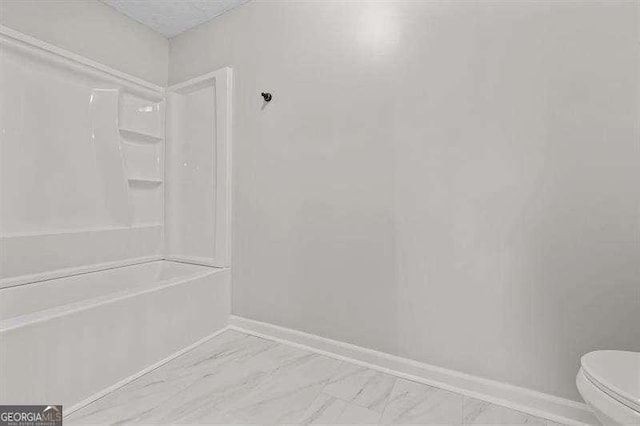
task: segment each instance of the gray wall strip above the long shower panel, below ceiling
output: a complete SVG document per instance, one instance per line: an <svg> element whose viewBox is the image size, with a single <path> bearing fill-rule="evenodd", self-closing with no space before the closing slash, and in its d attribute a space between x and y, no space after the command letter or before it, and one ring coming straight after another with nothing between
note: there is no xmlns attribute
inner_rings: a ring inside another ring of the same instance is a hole
<svg viewBox="0 0 640 426"><path fill-rule="evenodd" d="M98 0L0 0L0 24L159 85L166 38Z"/></svg>

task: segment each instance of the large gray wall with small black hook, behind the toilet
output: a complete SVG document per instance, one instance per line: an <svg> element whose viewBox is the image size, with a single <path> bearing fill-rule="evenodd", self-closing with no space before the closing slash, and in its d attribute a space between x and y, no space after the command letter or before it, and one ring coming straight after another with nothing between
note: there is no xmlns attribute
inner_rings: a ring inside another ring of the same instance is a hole
<svg viewBox="0 0 640 426"><path fill-rule="evenodd" d="M254 1L172 39L172 83L235 72L234 313L578 399L640 350L637 17Z"/></svg>

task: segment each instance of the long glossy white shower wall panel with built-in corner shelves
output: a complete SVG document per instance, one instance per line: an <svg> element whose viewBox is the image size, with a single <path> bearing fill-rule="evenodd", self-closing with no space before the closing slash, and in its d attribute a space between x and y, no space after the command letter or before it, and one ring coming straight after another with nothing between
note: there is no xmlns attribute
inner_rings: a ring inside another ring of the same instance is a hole
<svg viewBox="0 0 640 426"><path fill-rule="evenodd" d="M162 90L15 32L0 49L0 286L158 257Z"/></svg>

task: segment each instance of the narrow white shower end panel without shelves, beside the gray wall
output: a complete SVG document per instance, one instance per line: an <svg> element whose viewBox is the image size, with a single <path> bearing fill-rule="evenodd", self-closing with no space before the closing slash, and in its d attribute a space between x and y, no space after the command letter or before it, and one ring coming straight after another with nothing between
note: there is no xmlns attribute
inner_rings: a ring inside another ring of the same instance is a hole
<svg viewBox="0 0 640 426"><path fill-rule="evenodd" d="M229 266L231 69L167 93L166 235L170 259Z"/></svg>

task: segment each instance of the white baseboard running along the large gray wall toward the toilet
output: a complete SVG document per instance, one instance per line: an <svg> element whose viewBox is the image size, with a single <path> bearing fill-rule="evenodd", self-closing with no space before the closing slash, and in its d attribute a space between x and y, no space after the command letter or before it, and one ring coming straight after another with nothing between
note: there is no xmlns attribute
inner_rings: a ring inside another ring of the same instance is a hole
<svg viewBox="0 0 640 426"><path fill-rule="evenodd" d="M586 405L576 401L237 316L231 316L229 324L229 328L233 330L301 347L566 425L598 424Z"/></svg>

